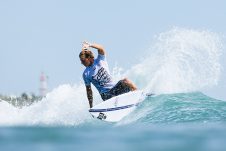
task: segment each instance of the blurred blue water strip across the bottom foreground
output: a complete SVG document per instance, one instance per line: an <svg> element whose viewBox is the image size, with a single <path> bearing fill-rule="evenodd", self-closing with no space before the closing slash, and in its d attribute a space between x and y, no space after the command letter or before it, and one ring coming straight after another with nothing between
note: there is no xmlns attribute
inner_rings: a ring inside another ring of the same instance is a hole
<svg viewBox="0 0 226 151"><path fill-rule="evenodd" d="M225 140L225 125L0 129L0 149L3 151L225 151Z"/></svg>

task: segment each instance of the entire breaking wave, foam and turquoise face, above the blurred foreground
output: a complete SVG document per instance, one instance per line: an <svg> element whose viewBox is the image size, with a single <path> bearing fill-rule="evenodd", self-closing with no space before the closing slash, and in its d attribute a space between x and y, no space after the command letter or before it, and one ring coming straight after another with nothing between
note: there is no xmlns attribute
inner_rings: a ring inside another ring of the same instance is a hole
<svg viewBox="0 0 226 151"><path fill-rule="evenodd" d="M146 56L131 69L114 77L127 76L140 89L155 94L147 98L120 124L225 122L224 101L209 98L203 88L218 83L221 73L220 36L209 31L173 28L160 33ZM101 102L94 91L95 104ZM97 123L88 110L85 87L61 85L41 101L17 108L0 101L0 126L50 125L78 126Z"/></svg>

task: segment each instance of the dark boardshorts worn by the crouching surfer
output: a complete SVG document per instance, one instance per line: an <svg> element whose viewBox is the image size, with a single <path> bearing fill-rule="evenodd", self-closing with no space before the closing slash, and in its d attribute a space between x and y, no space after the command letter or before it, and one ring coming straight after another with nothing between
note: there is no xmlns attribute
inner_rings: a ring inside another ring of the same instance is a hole
<svg viewBox="0 0 226 151"><path fill-rule="evenodd" d="M105 93L101 93L101 98L106 101L114 96L124 94L131 91L129 86L127 86L123 80L120 80L111 90Z"/></svg>

